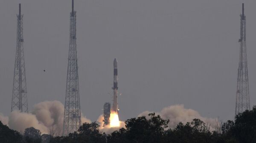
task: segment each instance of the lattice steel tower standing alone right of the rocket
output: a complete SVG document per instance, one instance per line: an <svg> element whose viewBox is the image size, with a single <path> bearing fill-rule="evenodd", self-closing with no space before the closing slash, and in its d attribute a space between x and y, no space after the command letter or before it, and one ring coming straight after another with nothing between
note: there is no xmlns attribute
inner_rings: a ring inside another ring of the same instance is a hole
<svg viewBox="0 0 256 143"><path fill-rule="evenodd" d="M240 26L240 56L239 67L237 77L237 90L236 90L236 115L250 110L250 97L249 97L249 82L248 82L248 70L247 70L247 54L246 54L246 37L245 37L245 15L244 15L244 3L242 4L241 26Z"/></svg>

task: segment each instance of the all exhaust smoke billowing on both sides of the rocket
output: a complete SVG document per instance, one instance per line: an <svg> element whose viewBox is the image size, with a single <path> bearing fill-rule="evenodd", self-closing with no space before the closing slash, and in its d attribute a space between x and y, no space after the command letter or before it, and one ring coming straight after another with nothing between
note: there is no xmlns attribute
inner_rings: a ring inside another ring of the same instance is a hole
<svg viewBox="0 0 256 143"><path fill-rule="evenodd" d="M152 113L150 111L144 111L138 115L148 117L148 114ZM205 118L202 117L197 111L193 109L185 109L183 104L172 105L163 108L160 112L155 112L156 115L160 115L163 119L169 119L168 126L170 128L175 128L179 122L186 123L191 122L193 119L198 118L204 123L210 126L213 130L216 127L217 118ZM11 129L15 129L19 132L23 132L24 129L33 126L39 129L43 134L61 135L63 127L63 117L64 117L64 105L60 101L44 101L35 104L34 109L31 113L24 113L19 111L13 111L9 117L4 116L0 113L0 121L6 124ZM84 115L81 115L82 123L91 123ZM100 132L105 132L110 134L113 131L119 130L120 128L125 128L125 122L120 121L119 127L103 126L103 116L100 115L98 118L98 123L100 125Z"/></svg>

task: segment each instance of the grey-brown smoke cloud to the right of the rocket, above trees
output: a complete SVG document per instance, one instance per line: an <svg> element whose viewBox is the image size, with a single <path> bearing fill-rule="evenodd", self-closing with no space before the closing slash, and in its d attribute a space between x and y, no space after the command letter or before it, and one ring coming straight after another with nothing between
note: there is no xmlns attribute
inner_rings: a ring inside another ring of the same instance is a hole
<svg viewBox="0 0 256 143"><path fill-rule="evenodd" d="M146 118L149 118L149 113L152 112L144 111L140 113L138 117L145 116ZM155 113L156 115L160 115L165 120L169 119L170 122L168 123L168 126L172 129L175 128L180 122L187 123L197 118L201 121L204 121L204 123L206 123L210 127L210 130L213 130L215 129L217 125L216 121L218 120L217 118L202 117L197 111L193 109L185 109L183 104L165 107L160 112Z"/></svg>

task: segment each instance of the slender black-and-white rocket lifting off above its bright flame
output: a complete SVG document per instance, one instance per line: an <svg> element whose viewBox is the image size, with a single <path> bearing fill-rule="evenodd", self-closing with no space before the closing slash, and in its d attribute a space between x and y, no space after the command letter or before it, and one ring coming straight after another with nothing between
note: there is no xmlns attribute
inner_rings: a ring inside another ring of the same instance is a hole
<svg viewBox="0 0 256 143"><path fill-rule="evenodd" d="M117 61L116 58L114 59L114 84L113 84L113 90L114 90L114 99L113 99L113 108L112 110L116 113L118 113L118 104L117 104Z"/></svg>

